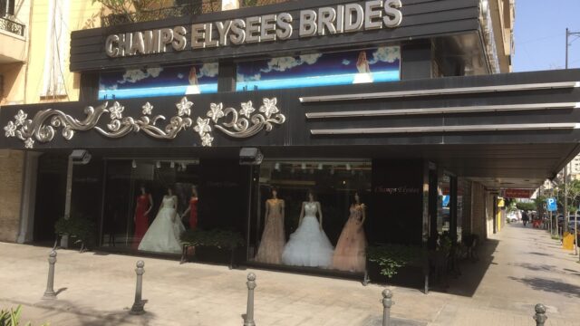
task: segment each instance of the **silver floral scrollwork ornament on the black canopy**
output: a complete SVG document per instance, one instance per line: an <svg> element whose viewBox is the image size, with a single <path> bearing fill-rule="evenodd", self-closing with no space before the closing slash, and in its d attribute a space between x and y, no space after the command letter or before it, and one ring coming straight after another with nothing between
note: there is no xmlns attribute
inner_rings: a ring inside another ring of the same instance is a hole
<svg viewBox="0 0 580 326"><path fill-rule="evenodd" d="M139 119L123 117L125 107L115 101L109 107L109 102L104 102L95 108L89 106L84 109L84 120L77 120L65 114L61 110L46 109L28 118L23 110L18 110L14 121L9 121L5 126L5 137L16 137L24 141L24 148L34 148L34 141L40 143L50 142L54 139L57 129L62 128L63 138L73 139L75 131L95 129L105 137L112 139L122 138L131 131L144 132L154 139L175 139L182 130L192 129L199 135L201 145L211 146L213 143L212 132L214 129L225 133L227 136L243 139L256 135L262 129L271 131L274 124L281 125L285 122L285 116L276 107L276 98L263 99L263 104L258 110L254 108L252 101L241 103L241 109L225 108L223 103L211 103L206 116L192 120L191 112L193 102L184 97L176 103L177 115L169 119L165 127L157 123L166 118L162 115L153 114L153 105L146 102L141 107L142 116ZM111 121L106 128L97 126L103 115L109 115Z"/></svg>

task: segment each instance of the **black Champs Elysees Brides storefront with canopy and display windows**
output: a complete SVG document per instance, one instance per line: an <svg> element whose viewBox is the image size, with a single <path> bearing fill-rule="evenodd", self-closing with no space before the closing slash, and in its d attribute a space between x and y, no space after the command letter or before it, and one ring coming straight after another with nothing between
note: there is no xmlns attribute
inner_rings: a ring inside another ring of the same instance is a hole
<svg viewBox="0 0 580 326"><path fill-rule="evenodd" d="M70 213L98 246L179 254L155 241L175 206L177 229L241 235L245 264L353 274L339 249L471 232L472 183L531 187L579 151L580 72L491 74L482 13L315 0L74 32L82 101L0 110L0 145L38 167L25 227L49 241Z"/></svg>

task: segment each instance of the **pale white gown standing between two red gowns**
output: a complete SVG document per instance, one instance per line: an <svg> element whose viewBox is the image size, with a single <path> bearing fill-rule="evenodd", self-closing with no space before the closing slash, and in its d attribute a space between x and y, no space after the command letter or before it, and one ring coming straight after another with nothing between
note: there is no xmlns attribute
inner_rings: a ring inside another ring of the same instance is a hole
<svg viewBox="0 0 580 326"><path fill-rule="evenodd" d="M181 244L179 235L185 231L185 226L181 223L181 218L176 216L177 197L163 197L161 208L149 229L143 235L139 244L139 250L180 254ZM172 219L175 218L175 222Z"/></svg>

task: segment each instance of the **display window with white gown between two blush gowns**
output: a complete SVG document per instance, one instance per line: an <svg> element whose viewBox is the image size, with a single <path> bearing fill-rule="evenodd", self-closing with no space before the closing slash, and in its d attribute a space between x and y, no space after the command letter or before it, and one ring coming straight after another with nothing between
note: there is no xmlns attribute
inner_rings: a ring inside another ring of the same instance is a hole
<svg viewBox="0 0 580 326"><path fill-rule="evenodd" d="M266 161L250 260L363 272L371 161Z"/></svg>

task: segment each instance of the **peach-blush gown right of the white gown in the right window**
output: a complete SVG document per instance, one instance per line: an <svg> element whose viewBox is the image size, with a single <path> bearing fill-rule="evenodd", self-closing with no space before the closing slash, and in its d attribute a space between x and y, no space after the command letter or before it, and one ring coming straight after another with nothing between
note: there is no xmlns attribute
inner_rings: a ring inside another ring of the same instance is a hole
<svg viewBox="0 0 580 326"><path fill-rule="evenodd" d="M343 227L333 255L333 268L341 271L364 272L366 269L366 238L362 229L362 206L351 206L351 216Z"/></svg>

